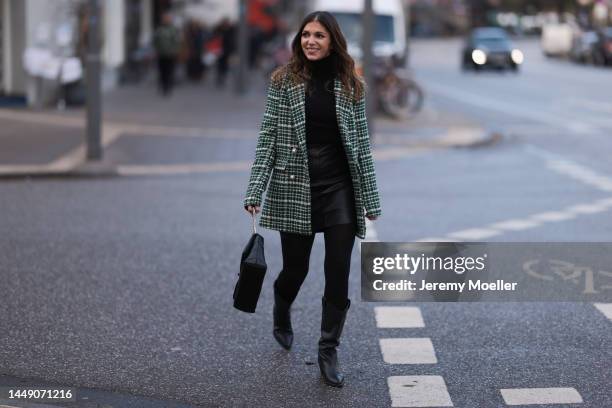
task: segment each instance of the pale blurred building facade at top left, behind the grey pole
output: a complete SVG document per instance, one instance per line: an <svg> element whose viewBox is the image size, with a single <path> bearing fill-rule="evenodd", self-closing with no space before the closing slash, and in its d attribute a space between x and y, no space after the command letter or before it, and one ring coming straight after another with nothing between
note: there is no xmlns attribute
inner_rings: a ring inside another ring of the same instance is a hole
<svg viewBox="0 0 612 408"><path fill-rule="evenodd" d="M119 82L131 48L150 43L153 2L98 1L102 16L103 89ZM57 61L61 63L70 57L79 58L85 65L88 3L87 0L0 0L0 98L25 96L30 106L46 105L57 93L59 78L32 75L31 67L24 61L27 51L37 51L30 63L46 64L47 72L53 72ZM136 33L133 24L128 24L135 19ZM131 40L133 37L135 41Z"/></svg>

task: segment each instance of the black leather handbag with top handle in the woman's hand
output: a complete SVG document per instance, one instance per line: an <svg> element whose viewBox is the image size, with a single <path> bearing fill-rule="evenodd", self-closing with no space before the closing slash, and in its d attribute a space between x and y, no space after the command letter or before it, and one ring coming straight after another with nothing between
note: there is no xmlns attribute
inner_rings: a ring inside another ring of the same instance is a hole
<svg viewBox="0 0 612 408"><path fill-rule="evenodd" d="M234 307L247 313L255 313L268 268L264 256L264 240L255 228L255 214L252 216L253 235L242 251L240 273L234 288Z"/></svg>

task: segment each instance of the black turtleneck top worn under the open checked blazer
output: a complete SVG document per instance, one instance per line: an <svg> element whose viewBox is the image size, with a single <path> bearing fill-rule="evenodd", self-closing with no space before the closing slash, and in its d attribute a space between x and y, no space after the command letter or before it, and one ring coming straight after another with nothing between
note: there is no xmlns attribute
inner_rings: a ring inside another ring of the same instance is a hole
<svg viewBox="0 0 612 408"><path fill-rule="evenodd" d="M312 79L306 86L305 113L311 187L330 186L350 179L336 118L335 63L334 56L308 63Z"/></svg>

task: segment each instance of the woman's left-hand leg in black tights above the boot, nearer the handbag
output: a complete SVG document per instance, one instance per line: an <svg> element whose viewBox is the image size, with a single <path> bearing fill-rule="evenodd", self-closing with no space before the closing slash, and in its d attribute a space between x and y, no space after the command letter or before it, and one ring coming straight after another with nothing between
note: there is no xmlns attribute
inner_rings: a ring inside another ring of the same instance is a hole
<svg viewBox="0 0 612 408"><path fill-rule="evenodd" d="M283 269L276 279L276 289L288 303L295 300L306 275L314 234L301 235L281 232Z"/></svg>

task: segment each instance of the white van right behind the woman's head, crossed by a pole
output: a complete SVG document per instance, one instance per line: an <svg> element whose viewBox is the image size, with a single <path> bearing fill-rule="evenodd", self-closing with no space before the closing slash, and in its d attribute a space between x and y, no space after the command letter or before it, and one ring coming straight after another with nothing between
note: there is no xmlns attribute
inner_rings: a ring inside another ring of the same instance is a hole
<svg viewBox="0 0 612 408"><path fill-rule="evenodd" d="M331 13L346 37L349 54L361 59L364 0L314 0L309 11ZM374 11L374 55L406 57L406 20L401 0L372 0Z"/></svg>

